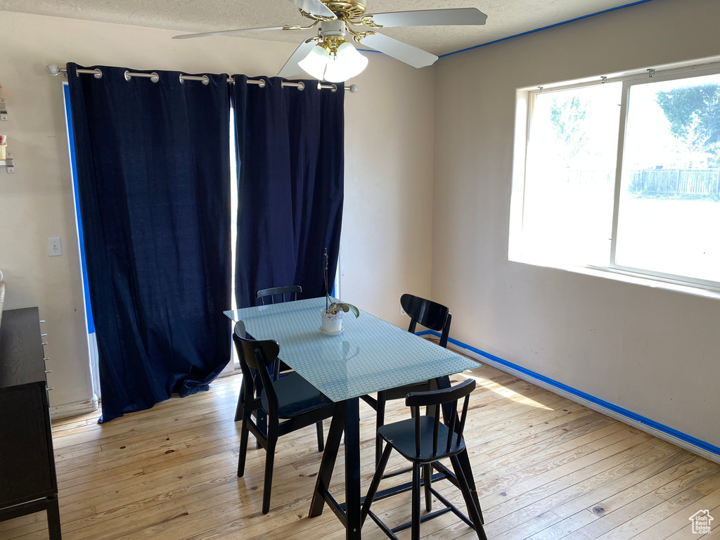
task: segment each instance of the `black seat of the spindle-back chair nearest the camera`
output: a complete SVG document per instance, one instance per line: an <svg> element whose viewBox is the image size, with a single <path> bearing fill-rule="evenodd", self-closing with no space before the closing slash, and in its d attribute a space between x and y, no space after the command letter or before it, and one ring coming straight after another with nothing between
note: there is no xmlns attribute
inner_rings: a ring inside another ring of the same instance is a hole
<svg viewBox="0 0 720 540"><path fill-rule="evenodd" d="M465 449L465 441L461 437L460 444L453 444L449 452L441 454L433 454L433 429L435 419L432 416L420 417L420 454L415 451L415 418L408 420L400 420L386 426L378 428L377 433L384 440L392 445L402 457L413 463L429 463L436 462L438 459L444 459L449 456L459 454ZM438 426L437 437L441 441L448 438L448 428L445 424L440 423Z"/></svg>

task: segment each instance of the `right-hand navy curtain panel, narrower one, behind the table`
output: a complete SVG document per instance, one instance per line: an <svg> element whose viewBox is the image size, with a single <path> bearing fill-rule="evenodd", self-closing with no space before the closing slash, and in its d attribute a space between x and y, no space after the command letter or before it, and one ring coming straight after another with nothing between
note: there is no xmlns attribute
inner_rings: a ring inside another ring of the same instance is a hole
<svg viewBox="0 0 720 540"><path fill-rule="evenodd" d="M325 294L323 253L332 289L343 213L343 86L337 91L265 86L235 75L238 151L238 307L259 303L258 289L300 285Z"/></svg>

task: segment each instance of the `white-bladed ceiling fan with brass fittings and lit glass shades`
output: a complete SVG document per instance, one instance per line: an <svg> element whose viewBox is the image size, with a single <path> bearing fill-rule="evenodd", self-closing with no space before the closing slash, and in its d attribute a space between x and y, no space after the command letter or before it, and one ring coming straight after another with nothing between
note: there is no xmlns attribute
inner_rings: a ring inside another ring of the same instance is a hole
<svg viewBox="0 0 720 540"><path fill-rule="evenodd" d="M306 71L310 76L330 82L343 82L356 76L367 66L349 40L366 45L392 56L415 68L430 66L436 55L408 45L378 32L382 28L403 26L448 26L485 24L487 15L479 9L426 9L414 12L365 14L364 4L355 0L289 0L300 8L300 14L312 19L309 26L276 26L240 28L219 32L176 35L174 39L210 35L242 34L263 30L311 30L320 25L318 35L300 44L278 73L280 77L294 77Z"/></svg>

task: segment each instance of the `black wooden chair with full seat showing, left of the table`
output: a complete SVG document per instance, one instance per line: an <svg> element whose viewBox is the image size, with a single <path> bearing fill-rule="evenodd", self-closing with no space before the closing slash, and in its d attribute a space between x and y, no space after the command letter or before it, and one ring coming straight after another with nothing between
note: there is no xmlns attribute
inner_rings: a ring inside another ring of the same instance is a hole
<svg viewBox="0 0 720 540"><path fill-rule="evenodd" d="M277 439L315 424L318 430L318 451L323 451L323 420L333 415L335 405L295 372L277 380L272 379L269 366L277 359L280 351L276 341L246 339L245 325L242 323L235 325L233 340L238 346L240 368L243 370L243 385L240 388L243 424L240 428L238 477L245 474L248 434L253 433L266 450L262 507L262 513L266 514L270 510ZM262 390L259 392L256 392L255 374L262 382ZM253 413L258 410L263 410L267 415L266 429L253 421Z"/></svg>

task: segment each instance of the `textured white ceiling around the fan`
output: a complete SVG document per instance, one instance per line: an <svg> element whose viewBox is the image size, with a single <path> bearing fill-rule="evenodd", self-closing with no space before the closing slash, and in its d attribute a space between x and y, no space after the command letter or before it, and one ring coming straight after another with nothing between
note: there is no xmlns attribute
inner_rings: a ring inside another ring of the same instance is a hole
<svg viewBox="0 0 720 540"><path fill-rule="evenodd" d="M368 0L368 13L477 7L487 14L480 27L410 27L382 32L436 55L623 6L631 0ZM305 24L287 0L0 0L0 11L71 17L100 22L209 32ZM307 35L308 32L305 32ZM300 32L258 32L243 37L300 43ZM220 40L228 37L197 39Z"/></svg>

